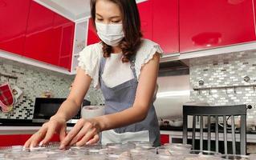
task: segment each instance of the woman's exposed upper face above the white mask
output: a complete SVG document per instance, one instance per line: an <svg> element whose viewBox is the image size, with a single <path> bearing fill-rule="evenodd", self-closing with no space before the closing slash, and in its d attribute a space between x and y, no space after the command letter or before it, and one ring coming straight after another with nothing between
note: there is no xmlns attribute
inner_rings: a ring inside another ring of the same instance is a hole
<svg viewBox="0 0 256 160"><path fill-rule="evenodd" d="M108 0L98 0L95 4L95 22L104 24L122 23L119 6Z"/></svg>

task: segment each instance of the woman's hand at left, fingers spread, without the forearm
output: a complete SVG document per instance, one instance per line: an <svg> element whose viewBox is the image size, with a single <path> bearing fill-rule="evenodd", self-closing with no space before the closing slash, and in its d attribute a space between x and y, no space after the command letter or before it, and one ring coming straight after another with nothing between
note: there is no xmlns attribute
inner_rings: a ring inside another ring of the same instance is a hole
<svg viewBox="0 0 256 160"><path fill-rule="evenodd" d="M67 123L65 118L55 115L26 141L24 147L30 148L47 144L55 133L59 134L60 141L62 141L66 136L66 129Z"/></svg>

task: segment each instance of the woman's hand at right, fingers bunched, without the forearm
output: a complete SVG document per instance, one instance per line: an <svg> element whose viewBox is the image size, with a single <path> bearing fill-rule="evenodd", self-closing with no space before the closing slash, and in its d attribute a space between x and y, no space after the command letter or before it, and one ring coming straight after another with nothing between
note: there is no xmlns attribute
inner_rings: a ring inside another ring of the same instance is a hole
<svg viewBox="0 0 256 160"><path fill-rule="evenodd" d="M96 127L93 119L80 118L75 126L60 143L60 149L65 146L84 146L100 140L100 129Z"/></svg>

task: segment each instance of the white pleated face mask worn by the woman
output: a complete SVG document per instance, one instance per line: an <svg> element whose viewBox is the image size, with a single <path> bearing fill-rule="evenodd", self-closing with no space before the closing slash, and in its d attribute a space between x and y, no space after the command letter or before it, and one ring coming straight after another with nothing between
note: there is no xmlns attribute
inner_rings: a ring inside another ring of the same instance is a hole
<svg viewBox="0 0 256 160"><path fill-rule="evenodd" d="M95 22L97 34L100 39L109 46L118 46L124 38L122 24L104 24Z"/></svg>

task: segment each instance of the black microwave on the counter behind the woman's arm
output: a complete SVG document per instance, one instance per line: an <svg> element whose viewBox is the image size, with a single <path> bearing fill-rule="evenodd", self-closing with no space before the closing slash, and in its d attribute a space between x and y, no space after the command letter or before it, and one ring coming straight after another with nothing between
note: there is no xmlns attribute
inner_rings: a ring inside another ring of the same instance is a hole
<svg viewBox="0 0 256 160"><path fill-rule="evenodd" d="M32 122L43 123L47 122L52 115L58 110L59 106L66 100L66 98L35 98L35 110ZM90 106L91 102L86 99L83 100L82 106ZM74 125L80 118L80 110L74 118L67 121L67 126Z"/></svg>

